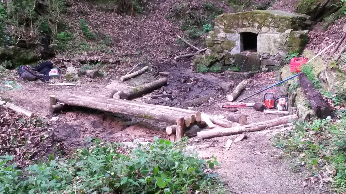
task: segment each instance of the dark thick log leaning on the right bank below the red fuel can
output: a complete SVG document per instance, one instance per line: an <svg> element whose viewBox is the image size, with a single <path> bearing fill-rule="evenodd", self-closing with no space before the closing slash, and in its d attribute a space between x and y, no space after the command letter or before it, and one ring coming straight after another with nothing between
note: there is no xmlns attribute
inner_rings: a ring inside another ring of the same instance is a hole
<svg viewBox="0 0 346 194"><path fill-rule="evenodd" d="M325 119L330 116L331 110L329 106L323 100L322 95L313 87L309 78L304 73L299 74L298 78L302 91L306 95L306 98L309 100L316 116L321 119Z"/></svg>

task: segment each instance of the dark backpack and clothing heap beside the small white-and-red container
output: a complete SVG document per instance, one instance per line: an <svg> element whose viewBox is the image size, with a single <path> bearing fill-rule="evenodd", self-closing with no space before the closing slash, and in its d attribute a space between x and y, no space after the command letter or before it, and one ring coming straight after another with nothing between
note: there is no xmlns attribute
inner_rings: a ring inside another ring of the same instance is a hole
<svg viewBox="0 0 346 194"><path fill-rule="evenodd" d="M50 61L46 61L36 67L31 67L29 65L20 66L18 68L19 80L34 81L40 79L41 81L49 81L49 71L51 71L52 68L53 63Z"/></svg>

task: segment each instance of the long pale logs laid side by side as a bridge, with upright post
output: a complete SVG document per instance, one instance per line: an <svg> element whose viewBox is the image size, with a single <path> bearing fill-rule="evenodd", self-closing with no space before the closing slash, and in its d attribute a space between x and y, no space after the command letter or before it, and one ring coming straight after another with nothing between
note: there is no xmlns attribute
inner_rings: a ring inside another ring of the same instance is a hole
<svg viewBox="0 0 346 194"><path fill-rule="evenodd" d="M115 114L124 114L170 123L176 125L175 130L178 135L175 136L179 137L175 138L175 140L183 136L184 127L190 127L192 124L208 125L209 128L215 126L225 128L241 126L239 123L206 113L200 113L199 111L100 97L87 93L83 95L61 94L60 96L51 96L49 111L55 113L71 106L93 108Z"/></svg>

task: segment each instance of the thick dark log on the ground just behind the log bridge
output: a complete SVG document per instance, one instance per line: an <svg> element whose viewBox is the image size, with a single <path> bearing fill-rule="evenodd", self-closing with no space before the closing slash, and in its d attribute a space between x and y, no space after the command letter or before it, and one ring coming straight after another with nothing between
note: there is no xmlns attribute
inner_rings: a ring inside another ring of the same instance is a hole
<svg viewBox="0 0 346 194"><path fill-rule="evenodd" d="M128 91L124 91L124 93L121 95L120 99L130 100L130 99L142 96L144 94L151 93L152 91L159 89L162 86L166 85L167 81L168 81L168 79L166 77L164 77L164 78L155 80L151 83L144 84L143 86L137 86L137 87L130 89Z"/></svg>

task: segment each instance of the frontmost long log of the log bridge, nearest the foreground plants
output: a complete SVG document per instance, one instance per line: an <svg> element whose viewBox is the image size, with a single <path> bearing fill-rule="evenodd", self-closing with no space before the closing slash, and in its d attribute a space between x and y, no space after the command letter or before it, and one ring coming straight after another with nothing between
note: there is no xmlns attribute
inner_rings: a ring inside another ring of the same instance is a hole
<svg viewBox="0 0 346 194"><path fill-rule="evenodd" d="M185 125L191 125L191 114L184 114L174 110L162 109L161 111L158 111L157 109L149 109L147 107L128 106L127 104L121 104L120 102L118 105L109 104L106 101L95 101L93 99L86 100L77 98L57 97L56 100L59 103L64 103L70 106L82 106L87 108L108 111L111 113L135 116L171 124L176 123L177 117L184 116Z"/></svg>

